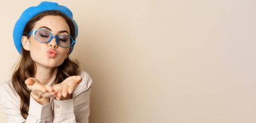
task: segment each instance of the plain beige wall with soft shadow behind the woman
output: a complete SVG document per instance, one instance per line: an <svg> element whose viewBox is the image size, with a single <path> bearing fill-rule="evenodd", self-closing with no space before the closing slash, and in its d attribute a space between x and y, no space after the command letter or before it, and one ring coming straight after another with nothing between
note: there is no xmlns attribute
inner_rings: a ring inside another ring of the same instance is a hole
<svg viewBox="0 0 256 123"><path fill-rule="evenodd" d="M58 2L79 24L71 58L94 79L90 123L256 122L256 1ZM0 81L20 56L15 21L38 3L1 1Z"/></svg>

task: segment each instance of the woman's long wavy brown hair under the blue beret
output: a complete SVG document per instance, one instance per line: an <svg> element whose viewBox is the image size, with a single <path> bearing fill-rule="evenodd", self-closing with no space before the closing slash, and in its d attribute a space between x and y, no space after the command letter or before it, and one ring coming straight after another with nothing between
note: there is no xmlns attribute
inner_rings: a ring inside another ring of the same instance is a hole
<svg viewBox="0 0 256 123"><path fill-rule="evenodd" d="M75 26L73 21L69 19L65 14L60 11L44 11L30 19L26 27L24 28L23 36L28 36L29 32L32 31L34 24L42 19L46 15L59 15L63 17L70 28L71 36L75 37ZM55 77L55 83L61 83L64 79L72 75L79 75L79 66L77 60L72 61L67 57L63 64L57 68L57 76ZM28 110L30 107L30 89L25 84L26 79L34 77L36 73L36 64L30 56L30 51L25 50L22 47L22 54L18 65L15 66L11 83L16 93L20 96L20 113L23 118L28 118Z"/></svg>

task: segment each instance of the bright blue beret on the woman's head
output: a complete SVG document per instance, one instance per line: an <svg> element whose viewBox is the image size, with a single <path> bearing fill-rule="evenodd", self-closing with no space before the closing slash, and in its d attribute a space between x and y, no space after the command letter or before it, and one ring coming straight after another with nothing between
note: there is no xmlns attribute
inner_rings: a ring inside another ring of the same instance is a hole
<svg viewBox="0 0 256 123"><path fill-rule="evenodd" d="M16 49L20 54L22 53L22 36L23 36L23 31L26 24L30 21L30 19L32 19L39 13L42 13L44 11L53 11L53 10L61 11L62 13L67 15L67 17L73 20L73 14L67 7L63 5L59 5L58 3L47 2L47 1L43 1L36 7L29 7L22 13L22 15L16 22L13 29L13 41ZM75 38L77 38L77 35L78 35L77 24L75 23L75 20L73 20L73 23L75 25ZM73 50L73 47L70 51L70 54Z"/></svg>

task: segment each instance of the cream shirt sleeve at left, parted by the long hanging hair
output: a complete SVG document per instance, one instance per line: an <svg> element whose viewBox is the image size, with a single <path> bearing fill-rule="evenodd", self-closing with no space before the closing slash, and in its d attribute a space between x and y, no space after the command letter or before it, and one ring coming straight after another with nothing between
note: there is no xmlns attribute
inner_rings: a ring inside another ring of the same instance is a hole
<svg viewBox="0 0 256 123"><path fill-rule="evenodd" d="M13 89L8 85L1 85L0 87L0 105L6 115L6 122L9 123L48 123L52 121L51 102L44 106L38 104L30 95L30 108L28 111L28 118L25 120L20 114L20 97L15 95Z"/></svg>

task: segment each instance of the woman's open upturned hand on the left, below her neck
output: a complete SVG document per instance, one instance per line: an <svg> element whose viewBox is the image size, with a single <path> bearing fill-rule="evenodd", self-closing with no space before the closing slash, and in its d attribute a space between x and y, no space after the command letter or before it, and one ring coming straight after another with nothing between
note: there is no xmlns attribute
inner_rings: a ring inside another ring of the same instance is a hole
<svg viewBox="0 0 256 123"><path fill-rule="evenodd" d="M56 94L53 87L42 85L38 79L30 77L26 79L25 83L31 90L32 97L41 105L48 104L50 97L54 97Z"/></svg>

